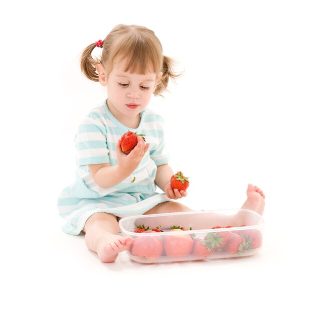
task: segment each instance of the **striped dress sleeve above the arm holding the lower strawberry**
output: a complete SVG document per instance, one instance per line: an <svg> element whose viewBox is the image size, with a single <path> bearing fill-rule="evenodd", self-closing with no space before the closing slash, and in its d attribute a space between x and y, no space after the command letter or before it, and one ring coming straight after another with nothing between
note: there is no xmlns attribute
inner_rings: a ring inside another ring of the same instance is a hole
<svg viewBox="0 0 314 312"><path fill-rule="evenodd" d="M161 166L169 162L169 152L167 149L164 120L161 116L156 115L153 118L154 130L152 131L154 140L149 151L150 158L156 166Z"/></svg>

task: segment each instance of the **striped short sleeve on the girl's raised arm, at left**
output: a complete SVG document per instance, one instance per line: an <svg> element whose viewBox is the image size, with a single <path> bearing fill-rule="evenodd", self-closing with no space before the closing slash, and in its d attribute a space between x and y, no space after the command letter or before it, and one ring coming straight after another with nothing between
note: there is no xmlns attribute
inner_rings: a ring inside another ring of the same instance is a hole
<svg viewBox="0 0 314 312"><path fill-rule="evenodd" d="M75 136L76 162L78 166L109 163L107 131L103 124L86 117Z"/></svg>

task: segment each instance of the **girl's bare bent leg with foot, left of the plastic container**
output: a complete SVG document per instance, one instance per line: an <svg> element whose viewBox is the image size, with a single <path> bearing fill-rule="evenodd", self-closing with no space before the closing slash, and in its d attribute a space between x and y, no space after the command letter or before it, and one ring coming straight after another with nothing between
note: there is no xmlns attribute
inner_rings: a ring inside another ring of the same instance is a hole
<svg viewBox="0 0 314 312"><path fill-rule="evenodd" d="M101 262L113 262L119 252L130 247L133 239L117 235L118 231L116 217L108 213L96 213L86 221L86 246L98 254Z"/></svg>

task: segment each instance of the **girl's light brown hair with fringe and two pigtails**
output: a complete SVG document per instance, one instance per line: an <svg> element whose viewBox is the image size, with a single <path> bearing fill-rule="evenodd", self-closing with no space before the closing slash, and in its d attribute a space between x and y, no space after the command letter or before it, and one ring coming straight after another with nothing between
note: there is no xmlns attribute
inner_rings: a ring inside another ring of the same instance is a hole
<svg viewBox="0 0 314 312"><path fill-rule="evenodd" d="M169 78L175 79L182 73L174 72L174 61L163 55L163 47L154 32L137 25L117 25L107 35L102 45L101 59L92 57L96 47L93 43L86 47L81 56L81 70L92 81L99 81L96 66L105 66L107 75L117 59L127 59L124 71L146 74L149 70L158 75L163 73L154 95L167 90Z"/></svg>

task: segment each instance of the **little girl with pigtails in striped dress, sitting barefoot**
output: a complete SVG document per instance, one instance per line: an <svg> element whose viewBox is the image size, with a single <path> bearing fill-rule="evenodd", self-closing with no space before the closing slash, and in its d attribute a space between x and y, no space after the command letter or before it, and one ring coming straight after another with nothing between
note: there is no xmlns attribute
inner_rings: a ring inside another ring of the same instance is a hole
<svg viewBox="0 0 314 312"><path fill-rule="evenodd" d="M100 60L91 55L96 47L102 49ZM82 53L81 69L87 78L106 86L108 98L78 127L76 181L60 194L58 209L66 221L64 232L83 231L87 247L100 261L113 262L132 243L131 237L117 235L118 218L190 211L173 201L187 192L170 186L173 170L164 122L146 108L152 94L160 95L169 78L179 75L155 34L135 25L118 25L104 41L89 45ZM138 136L135 148L124 154L120 137L128 130L144 134L146 143ZM156 193L156 186L165 193ZM262 214L263 192L249 184L247 196L242 208Z"/></svg>

